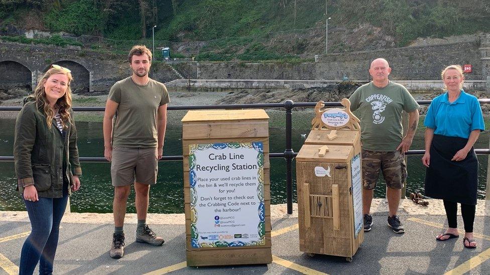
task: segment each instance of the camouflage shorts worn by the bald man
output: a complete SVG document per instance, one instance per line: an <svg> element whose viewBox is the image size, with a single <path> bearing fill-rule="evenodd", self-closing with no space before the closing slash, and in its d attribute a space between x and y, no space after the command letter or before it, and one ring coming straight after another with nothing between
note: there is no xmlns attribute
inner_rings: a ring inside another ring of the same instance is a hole
<svg viewBox="0 0 490 275"><path fill-rule="evenodd" d="M400 151L381 152L362 150L362 176L364 189L374 189L383 170L386 186L393 189L402 189L407 179L407 166L405 154Z"/></svg>

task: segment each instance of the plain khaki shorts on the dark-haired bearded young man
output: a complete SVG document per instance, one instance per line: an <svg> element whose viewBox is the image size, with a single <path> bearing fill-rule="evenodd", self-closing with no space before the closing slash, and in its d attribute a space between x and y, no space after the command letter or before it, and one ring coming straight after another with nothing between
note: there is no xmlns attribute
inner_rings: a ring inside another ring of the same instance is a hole
<svg viewBox="0 0 490 275"><path fill-rule="evenodd" d="M110 164L113 186L126 186L136 182L157 183L157 148L114 147Z"/></svg>

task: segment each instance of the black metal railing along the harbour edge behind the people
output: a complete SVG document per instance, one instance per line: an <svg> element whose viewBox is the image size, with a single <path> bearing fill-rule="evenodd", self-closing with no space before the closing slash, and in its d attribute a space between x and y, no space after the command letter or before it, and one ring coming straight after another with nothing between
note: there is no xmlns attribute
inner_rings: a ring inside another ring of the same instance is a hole
<svg viewBox="0 0 490 275"><path fill-rule="evenodd" d="M490 99L479 99L480 104L490 104ZM430 105L430 100L419 100L419 105ZM283 153L272 152L269 153L270 158L284 158L286 160L286 203L288 214L293 213L293 159L298 154L293 151L292 148L292 117L294 108L314 108L316 102L298 102L294 103L292 100L286 100L284 103L265 103L265 104L222 104L222 105L182 105L182 106L168 106L167 110L211 110L211 109L271 109L271 108L284 108L286 111L286 149ZM343 107L340 102L324 102L325 107ZM0 106L0 111L20 111L22 107L12 106ZM73 111L78 112L103 112L105 107L73 107ZM490 146L489 146L490 147ZM425 150L409 150L406 155L423 155ZM490 155L489 149L475 149L476 154ZM160 161L182 161L182 155L163 156ZM13 156L0 156L0 161L14 161ZM103 157L80 157L80 162L107 162ZM490 169L490 161L488 163L488 169ZM490 179L487 175L486 183L486 199L490 199L488 189L490 188Z"/></svg>

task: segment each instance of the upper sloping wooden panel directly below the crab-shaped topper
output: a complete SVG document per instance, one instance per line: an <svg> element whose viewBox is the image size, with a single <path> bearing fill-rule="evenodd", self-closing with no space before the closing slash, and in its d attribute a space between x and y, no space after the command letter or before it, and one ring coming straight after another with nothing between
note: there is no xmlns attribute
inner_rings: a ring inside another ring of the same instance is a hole
<svg viewBox="0 0 490 275"><path fill-rule="evenodd" d="M332 145L351 145L359 139L359 131L337 130L337 137L329 140L327 135L332 130L311 130L305 140L305 144L332 144Z"/></svg>

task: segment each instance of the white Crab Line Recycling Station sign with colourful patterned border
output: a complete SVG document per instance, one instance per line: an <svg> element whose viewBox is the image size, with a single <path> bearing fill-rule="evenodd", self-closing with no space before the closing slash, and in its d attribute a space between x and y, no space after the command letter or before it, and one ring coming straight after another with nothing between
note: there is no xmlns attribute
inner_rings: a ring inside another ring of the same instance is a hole
<svg viewBox="0 0 490 275"><path fill-rule="evenodd" d="M191 245L265 245L262 142L189 145Z"/></svg>

